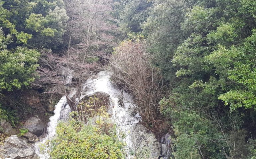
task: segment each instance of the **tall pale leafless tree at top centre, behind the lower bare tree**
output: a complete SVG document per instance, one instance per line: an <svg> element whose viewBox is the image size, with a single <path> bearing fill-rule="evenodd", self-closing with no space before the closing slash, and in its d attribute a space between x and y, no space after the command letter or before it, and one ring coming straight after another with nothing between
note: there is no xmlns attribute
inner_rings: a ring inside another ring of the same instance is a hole
<svg viewBox="0 0 256 159"><path fill-rule="evenodd" d="M117 26L111 16L112 0L65 0L70 17L66 42L68 53L71 44L85 62L88 56L101 56L107 49L115 46L114 36Z"/></svg>

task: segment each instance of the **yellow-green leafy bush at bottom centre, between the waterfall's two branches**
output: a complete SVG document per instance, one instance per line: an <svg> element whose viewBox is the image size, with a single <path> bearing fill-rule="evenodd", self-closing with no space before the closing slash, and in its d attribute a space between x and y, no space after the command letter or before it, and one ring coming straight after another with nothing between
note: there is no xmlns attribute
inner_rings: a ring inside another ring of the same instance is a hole
<svg viewBox="0 0 256 159"><path fill-rule="evenodd" d="M57 135L50 141L50 155L53 159L124 158L123 143L116 135L106 134L99 125L84 126L72 119L67 123L60 122L56 132Z"/></svg>

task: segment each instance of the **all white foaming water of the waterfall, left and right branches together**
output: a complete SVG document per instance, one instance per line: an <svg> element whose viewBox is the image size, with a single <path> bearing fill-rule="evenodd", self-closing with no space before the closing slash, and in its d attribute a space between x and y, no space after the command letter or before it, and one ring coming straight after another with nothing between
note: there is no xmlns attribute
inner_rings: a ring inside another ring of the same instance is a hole
<svg viewBox="0 0 256 159"><path fill-rule="evenodd" d="M132 97L123 91L121 93L115 85L110 82L110 73L108 72L100 72L96 78L90 78L86 81L84 90L86 92L82 93L80 99L82 99L86 95L90 95L96 92L104 92L110 95L110 106L112 107L112 121L117 125L117 132L119 135L119 139L123 140L127 145L127 153L130 149L132 149L132 139L130 130L139 122L139 114L136 114L134 117L131 115L134 108L134 102ZM123 106L120 106L120 99L123 102ZM63 109L66 104L66 97L62 97L60 102L55 106L54 116L50 117L50 122L48 123L48 134L42 139L40 142L36 143L37 150L36 153L39 154L40 159L49 159L50 156L48 154L40 154L39 145L45 143L48 139L51 139L56 134L56 126L58 124L58 120L62 116L67 116L70 112L67 109ZM67 105L66 108L69 108ZM123 135L125 137L123 138ZM130 158L128 155L126 158Z"/></svg>

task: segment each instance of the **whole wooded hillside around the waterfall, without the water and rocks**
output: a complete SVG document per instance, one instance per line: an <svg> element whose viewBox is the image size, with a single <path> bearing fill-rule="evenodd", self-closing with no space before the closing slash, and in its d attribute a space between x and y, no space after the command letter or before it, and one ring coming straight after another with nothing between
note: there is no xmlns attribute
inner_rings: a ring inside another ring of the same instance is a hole
<svg viewBox="0 0 256 159"><path fill-rule="evenodd" d="M33 117L47 133L64 97L72 112L50 158L150 158L127 152L111 94L84 98L102 70L118 103L132 96L159 158L256 158L255 0L0 0L0 145L33 132Z"/></svg>

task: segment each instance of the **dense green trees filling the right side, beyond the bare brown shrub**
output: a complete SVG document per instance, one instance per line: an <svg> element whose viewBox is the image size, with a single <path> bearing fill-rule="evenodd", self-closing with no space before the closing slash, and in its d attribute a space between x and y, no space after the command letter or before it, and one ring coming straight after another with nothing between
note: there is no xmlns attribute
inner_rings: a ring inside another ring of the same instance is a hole
<svg viewBox="0 0 256 159"><path fill-rule="evenodd" d="M153 0L148 14L142 33L170 87L160 105L173 155L255 158L256 1Z"/></svg>

